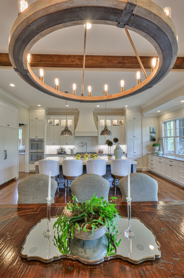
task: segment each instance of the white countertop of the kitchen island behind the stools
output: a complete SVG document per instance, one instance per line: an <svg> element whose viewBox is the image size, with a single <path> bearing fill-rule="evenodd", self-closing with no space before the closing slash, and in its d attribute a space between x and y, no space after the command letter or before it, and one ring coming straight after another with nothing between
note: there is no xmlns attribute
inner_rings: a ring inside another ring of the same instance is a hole
<svg viewBox="0 0 184 278"><path fill-rule="evenodd" d="M70 159L70 160L71 159L72 160L75 159L76 160L76 157L66 157L66 160L68 160L68 159ZM88 158L88 160L91 160L91 159L93 159L93 158ZM100 156L97 159L104 159L104 160L106 160L106 164L110 165L111 160L109 160L107 156ZM127 158L125 156L122 156L122 159L129 159L129 158ZM49 156L47 158L44 158L43 160L58 160L60 165L62 165L63 157L60 157L60 156ZM81 158L80 160L83 162L83 165L86 165L87 160L85 158ZM112 156L112 160L115 160L115 156ZM129 160L131 160L131 164L137 164L136 160L132 160L132 159L129 159ZM35 162L34 165L38 165L38 161Z"/></svg>

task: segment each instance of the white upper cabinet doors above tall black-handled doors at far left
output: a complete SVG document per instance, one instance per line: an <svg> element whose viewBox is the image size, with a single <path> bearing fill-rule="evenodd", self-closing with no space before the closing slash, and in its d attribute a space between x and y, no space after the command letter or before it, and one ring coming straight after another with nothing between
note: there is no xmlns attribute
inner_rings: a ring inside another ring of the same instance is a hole
<svg viewBox="0 0 184 278"><path fill-rule="evenodd" d="M0 102L0 126L18 128L18 110Z"/></svg>

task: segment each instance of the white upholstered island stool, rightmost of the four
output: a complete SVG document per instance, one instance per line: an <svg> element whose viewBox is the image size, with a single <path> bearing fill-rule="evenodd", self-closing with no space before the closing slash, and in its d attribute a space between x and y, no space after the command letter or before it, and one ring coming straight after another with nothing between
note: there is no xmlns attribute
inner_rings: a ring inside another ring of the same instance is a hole
<svg viewBox="0 0 184 278"><path fill-rule="evenodd" d="M119 187L119 183L116 183L116 179L120 180L131 173L131 160L129 159L115 159L110 163L111 176L114 179L112 185L114 186L114 196L116 196L116 187Z"/></svg>

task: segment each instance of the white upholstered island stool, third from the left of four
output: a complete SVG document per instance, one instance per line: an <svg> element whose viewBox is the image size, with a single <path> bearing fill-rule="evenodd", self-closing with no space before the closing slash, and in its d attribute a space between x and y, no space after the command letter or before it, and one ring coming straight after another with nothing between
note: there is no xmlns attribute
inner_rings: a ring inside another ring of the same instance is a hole
<svg viewBox="0 0 184 278"><path fill-rule="evenodd" d="M105 159L91 159L86 162L86 173L97 174L105 177L106 175L106 160Z"/></svg>

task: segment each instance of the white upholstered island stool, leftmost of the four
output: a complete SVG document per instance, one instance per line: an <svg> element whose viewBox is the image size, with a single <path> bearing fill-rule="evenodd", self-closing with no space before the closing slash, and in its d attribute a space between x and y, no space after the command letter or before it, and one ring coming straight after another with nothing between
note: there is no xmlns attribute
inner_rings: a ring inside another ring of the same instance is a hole
<svg viewBox="0 0 184 278"><path fill-rule="evenodd" d="M59 192L58 178L60 176L60 164L58 160L39 160L38 161L39 174L45 174L49 176L49 170L51 171L51 178L57 181L57 192Z"/></svg>

